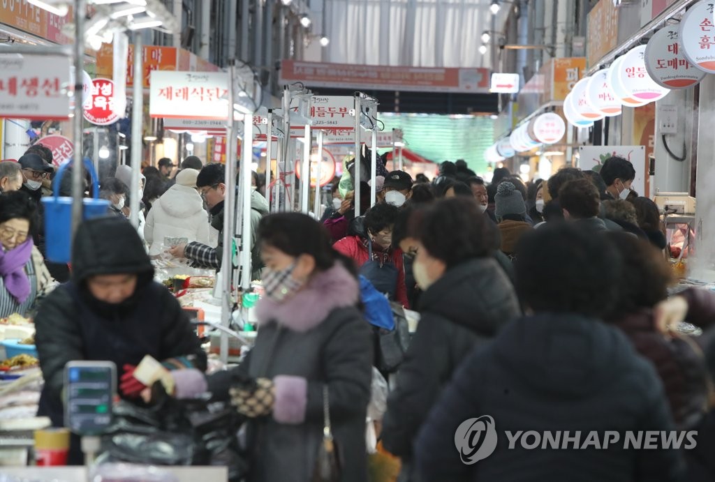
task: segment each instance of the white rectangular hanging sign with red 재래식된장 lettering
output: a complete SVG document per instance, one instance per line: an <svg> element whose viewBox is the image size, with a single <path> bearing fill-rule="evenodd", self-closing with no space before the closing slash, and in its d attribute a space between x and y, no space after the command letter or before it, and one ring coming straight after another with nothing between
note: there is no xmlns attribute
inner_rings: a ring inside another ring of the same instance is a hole
<svg viewBox="0 0 715 482"><path fill-rule="evenodd" d="M228 119L226 72L151 73L149 115L177 119Z"/></svg>

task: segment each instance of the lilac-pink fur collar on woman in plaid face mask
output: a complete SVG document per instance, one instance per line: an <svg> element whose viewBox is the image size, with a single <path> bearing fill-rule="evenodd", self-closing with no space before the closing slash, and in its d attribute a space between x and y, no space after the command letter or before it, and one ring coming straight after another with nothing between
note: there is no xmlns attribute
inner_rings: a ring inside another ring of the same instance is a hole
<svg viewBox="0 0 715 482"><path fill-rule="evenodd" d="M358 280L337 261L283 303L262 298L256 306L256 316L259 324L276 322L293 331L309 331L325 321L331 311L355 306L359 298Z"/></svg>

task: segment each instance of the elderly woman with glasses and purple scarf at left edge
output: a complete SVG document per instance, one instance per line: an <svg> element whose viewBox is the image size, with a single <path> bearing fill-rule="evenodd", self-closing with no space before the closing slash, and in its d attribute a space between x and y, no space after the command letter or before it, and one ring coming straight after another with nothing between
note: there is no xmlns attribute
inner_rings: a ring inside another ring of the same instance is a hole
<svg viewBox="0 0 715 482"><path fill-rule="evenodd" d="M35 204L21 191L0 194L0 318L25 316L54 280L30 236Z"/></svg>

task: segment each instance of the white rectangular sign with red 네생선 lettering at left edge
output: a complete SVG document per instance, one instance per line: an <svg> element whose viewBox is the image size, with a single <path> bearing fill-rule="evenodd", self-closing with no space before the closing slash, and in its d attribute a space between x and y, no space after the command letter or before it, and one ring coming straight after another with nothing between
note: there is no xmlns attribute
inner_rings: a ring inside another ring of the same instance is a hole
<svg viewBox="0 0 715 482"><path fill-rule="evenodd" d="M0 54L0 117L69 119L67 56Z"/></svg>

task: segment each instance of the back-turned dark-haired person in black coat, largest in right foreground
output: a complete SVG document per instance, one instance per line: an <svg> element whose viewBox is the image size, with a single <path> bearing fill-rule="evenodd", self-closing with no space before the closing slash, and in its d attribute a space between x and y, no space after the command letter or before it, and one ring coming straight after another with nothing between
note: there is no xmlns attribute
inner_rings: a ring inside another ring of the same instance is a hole
<svg viewBox="0 0 715 482"><path fill-rule="evenodd" d="M509 323L457 369L415 443L421 481L681 480L681 454L664 448L661 438L656 448L623 448L626 431L667 433L674 423L653 365L599 319L623 273L616 248L606 236L562 223L533 231L519 251L516 287L531 314ZM465 430L461 456L455 434L461 440L460 425L486 415L493 422L481 423L490 423L494 450L463 463L486 431ZM510 443L507 431L518 439ZM560 433L561 449L531 447L533 436L521 438L531 431ZM618 443L603 446L606 431L619 433ZM584 447L591 433L599 445Z"/></svg>

